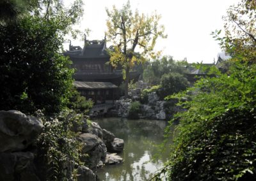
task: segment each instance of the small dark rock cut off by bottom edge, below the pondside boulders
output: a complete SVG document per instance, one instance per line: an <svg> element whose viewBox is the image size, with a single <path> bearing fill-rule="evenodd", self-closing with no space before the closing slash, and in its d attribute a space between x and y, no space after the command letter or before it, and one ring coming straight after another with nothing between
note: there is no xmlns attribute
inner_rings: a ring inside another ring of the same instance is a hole
<svg viewBox="0 0 256 181"><path fill-rule="evenodd" d="M77 168L77 181L96 181L97 176L90 168L86 166L79 166Z"/></svg>

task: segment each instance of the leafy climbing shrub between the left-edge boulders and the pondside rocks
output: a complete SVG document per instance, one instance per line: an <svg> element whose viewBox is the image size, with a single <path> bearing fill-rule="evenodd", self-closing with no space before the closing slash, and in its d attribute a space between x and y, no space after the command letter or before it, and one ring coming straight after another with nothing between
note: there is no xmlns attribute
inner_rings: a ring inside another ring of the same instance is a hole
<svg viewBox="0 0 256 181"><path fill-rule="evenodd" d="M82 129L86 124L83 114L65 110L54 117L40 115L44 122L44 129L37 140L36 161L40 164L40 177L42 180L65 180L76 178L75 172L65 171L81 165L82 143L77 140L76 129ZM77 128L78 127L78 128ZM69 167L68 167L69 168ZM72 170L71 170L72 171Z"/></svg>

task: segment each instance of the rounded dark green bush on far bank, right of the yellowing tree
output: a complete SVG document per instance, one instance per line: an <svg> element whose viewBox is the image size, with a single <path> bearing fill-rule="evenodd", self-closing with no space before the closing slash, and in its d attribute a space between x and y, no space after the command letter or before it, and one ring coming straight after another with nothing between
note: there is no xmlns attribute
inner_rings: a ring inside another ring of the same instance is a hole
<svg viewBox="0 0 256 181"><path fill-rule="evenodd" d="M168 95L184 91L189 86L189 82L179 73L168 73L161 77L160 85L159 95L163 99Z"/></svg>

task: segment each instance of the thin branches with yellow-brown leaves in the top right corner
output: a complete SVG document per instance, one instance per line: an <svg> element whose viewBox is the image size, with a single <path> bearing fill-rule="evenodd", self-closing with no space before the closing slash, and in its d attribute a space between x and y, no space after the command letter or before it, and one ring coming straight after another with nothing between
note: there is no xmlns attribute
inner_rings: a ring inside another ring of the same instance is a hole
<svg viewBox="0 0 256 181"><path fill-rule="evenodd" d="M236 6L230 6L225 21L225 36L215 31L214 38L233 59L255 62L256 59L256 1L242 0Z"/></svg>

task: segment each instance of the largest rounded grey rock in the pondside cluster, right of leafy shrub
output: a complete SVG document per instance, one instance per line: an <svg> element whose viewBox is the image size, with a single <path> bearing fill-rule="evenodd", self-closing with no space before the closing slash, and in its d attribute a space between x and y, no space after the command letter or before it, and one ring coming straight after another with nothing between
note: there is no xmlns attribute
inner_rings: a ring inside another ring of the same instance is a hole
<svg viewBox="0 0 256 181"><path fill-rule="evenodd" d="M95 169L100 161L105 161L107 148L104 142L95 134L83 133L79 135L79 140L84 143L83 154L89 157L82 157L82 161Z"/></svg>

